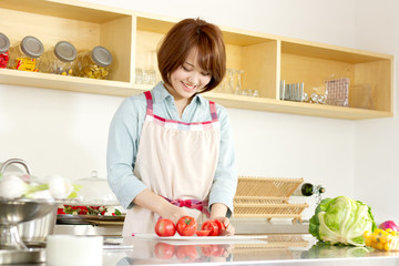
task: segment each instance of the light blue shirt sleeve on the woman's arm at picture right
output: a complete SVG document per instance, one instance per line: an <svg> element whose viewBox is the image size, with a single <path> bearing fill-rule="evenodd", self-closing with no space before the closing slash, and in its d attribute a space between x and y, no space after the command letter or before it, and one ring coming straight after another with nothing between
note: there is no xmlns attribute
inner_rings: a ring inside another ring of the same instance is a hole
<svg viewBox="0 0 399 266"><path fill-rule="evenodd" d="M217 105L217 115L221 123L221 147L214 181L209 192L209 206L214 203L225 204L227 217L234 212L233 200L237 188L237 170L235 146L231 121L225 108Z"/></svg>

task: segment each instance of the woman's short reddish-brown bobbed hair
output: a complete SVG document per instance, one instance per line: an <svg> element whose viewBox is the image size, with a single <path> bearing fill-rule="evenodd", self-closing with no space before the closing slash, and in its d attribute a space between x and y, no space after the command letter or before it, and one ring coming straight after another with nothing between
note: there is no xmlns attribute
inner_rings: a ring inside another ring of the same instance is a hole
<svg viewBox="0 0 399 266"><path fill-rule="evenodd" d="M212 75L209 83L201 92L211 91L225 75L226 50L219 28L201 19L184 19L163 38L157 51L162 79L171 85L171 73L183 65L193 48L198 51L200 68Z"/></svg>

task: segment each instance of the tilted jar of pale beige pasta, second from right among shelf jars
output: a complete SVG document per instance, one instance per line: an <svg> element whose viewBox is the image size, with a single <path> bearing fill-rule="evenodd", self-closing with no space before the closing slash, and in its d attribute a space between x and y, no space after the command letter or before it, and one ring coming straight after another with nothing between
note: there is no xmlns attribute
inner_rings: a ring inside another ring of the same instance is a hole
<svg viewBox="0 0 399 266"><path fill-rule="evenodd" d="M39 71L62 75L72 75L73 63L78 52L72 43L60 41L55 47L47 50L40 58Z"/></svg>

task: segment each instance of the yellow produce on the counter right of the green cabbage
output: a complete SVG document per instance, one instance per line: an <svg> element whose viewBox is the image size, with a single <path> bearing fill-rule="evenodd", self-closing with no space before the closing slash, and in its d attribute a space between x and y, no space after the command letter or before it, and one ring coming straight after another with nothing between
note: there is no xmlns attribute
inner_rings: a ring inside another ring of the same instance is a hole
<svg viewBox="0 0 399 266"><path fill-rule="evenodd" d="M364 237L366 246L385 252L399 250L399 232L378 228L372 234L365 232Z"/></svg>

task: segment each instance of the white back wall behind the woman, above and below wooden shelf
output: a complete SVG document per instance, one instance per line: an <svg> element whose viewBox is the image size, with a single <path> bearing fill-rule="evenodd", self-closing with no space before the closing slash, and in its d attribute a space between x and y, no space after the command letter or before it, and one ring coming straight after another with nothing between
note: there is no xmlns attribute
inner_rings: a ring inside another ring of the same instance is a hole
<svg viewBox="0 0 399 266"><path fill-rule="evenodd" d="M356 38L361 42L361 34L355 34L355 25L356 31L362 30L355 23L355 0L334 4L326 0L91 1L175 18L201 17L233 28L337 45L355 47ZM108 126L121 101L0 84L0 162L22 157L40 176L59 173L75 180L89 176L92 170L106 176ZM326 196L355 195L355 171L358 174L362 165L356 139L359 129L372 122L238 109L229 109L229 113L241 175L304 177L325 185ZM367 141L367 135L364 139ZM378 198L367 200L381 205ZM305 218L313 214L315 200L308 203Z"/></svg>

